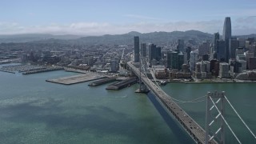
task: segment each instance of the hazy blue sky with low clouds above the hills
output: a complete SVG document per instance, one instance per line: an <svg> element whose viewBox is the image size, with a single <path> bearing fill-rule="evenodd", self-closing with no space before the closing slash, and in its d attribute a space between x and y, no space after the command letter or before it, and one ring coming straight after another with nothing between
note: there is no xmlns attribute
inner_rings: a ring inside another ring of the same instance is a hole
<svg viewBox="0 0 256 144"><path fill-rule="evenodd" d="M174 30L256 34L255 0L1 0L0 34L124 34Z"/></svg>

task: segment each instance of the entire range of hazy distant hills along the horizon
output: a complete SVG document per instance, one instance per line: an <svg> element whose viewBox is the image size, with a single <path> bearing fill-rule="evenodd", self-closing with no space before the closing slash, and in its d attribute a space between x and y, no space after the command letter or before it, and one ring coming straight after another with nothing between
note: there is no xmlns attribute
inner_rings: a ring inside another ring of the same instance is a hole
<svg viewBox="0 0 256 144"><path fill-rule="evenodd" d="M106 34L102 36L78 36L78 35L53 35L53 34L17 34L0 35L1 42L35 42L35 43L62 43L76 45L122 45L133 44L134 36L139 36L140 42L154 43L161 45L164 43L177 41L178 38L186 40L193 39L195 42L212 41L213 34L204 33L198 30L173 31L173 32L151 32L139 33L131 31L127 34ZM256 37L256 34L237 36L238 38Z"/></svg>

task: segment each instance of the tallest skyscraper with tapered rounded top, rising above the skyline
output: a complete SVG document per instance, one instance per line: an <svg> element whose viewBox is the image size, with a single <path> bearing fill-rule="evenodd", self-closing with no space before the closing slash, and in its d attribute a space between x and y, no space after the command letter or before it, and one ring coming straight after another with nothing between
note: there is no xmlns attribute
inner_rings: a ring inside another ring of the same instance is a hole
<svg viewBox="0 0 256 144"><path fill-rule="evenodd" d="M230 17L225 18L223 26L223 40L226 42L225 46L225 62L228 62L230 59L230 38L231 38L231 20Z"/></svg>

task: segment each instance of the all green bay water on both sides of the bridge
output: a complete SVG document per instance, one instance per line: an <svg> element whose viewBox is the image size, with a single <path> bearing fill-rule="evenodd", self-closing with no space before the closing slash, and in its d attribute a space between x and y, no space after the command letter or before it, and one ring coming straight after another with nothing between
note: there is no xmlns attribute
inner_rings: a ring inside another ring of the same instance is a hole
<svg viewBox="0 0 256 144"><path fill-rule="evenodd" d="M71 86L46 79L74 75L65 71L39 74L0 72L0 143L193 143L177 122L165 113L152 94L135 94L138 85L122 90ZM182 84L162 88L184 101L213 90L225 90L251 130L256 131L255 84ZM180 104L201 126L205 102ZM231 109L227 120L244 143L255 143ZM226 128L227 129L227 128ZM226 142L235 143L226 130Z"/></svg>

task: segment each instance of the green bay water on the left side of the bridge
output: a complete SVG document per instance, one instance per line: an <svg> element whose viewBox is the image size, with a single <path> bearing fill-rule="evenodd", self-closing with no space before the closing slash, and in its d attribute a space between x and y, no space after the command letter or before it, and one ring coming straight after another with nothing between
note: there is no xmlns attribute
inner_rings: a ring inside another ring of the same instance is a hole
<svg viewBox="0 0 256 144"><path fill-rule="evenodd" d="M74 74L0 72L0 143L193 142L146 94L134 93L138 85L114 91L45 81Z"/></svg>

